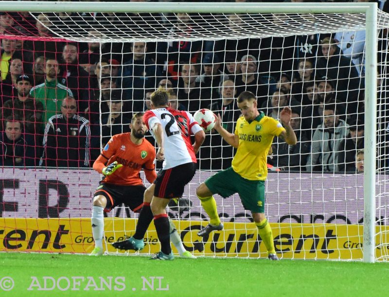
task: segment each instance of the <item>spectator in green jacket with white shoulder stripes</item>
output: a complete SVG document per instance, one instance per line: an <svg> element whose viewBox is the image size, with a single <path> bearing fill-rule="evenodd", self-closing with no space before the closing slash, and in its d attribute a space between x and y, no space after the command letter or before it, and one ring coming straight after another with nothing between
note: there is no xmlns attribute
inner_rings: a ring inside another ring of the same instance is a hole
<svg viewBox="0 0 389 297"><path fill-rule="evenodd" d="M42 117L43 126L56 113L61 110L61 102L66 97L72 97L71 89L60 84L57 80L59 73L58 61L51 58L45 63L45 82L32 87L30 96L43 104L45 113Z"/></svg>

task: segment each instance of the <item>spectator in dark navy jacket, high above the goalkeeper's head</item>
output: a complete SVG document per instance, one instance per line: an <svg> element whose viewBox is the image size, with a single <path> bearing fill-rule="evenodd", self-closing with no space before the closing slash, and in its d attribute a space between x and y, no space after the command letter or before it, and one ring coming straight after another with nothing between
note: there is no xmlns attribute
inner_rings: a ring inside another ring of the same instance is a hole
<svg viewBox="0 0 389 297"><path fill-rule="evenodd" d="M124 92L126 103L125 111L143 111L143 98L145 89L155 88L160 80L161 71L155 62L146 56L147 45L145 42L133 42L131 45L132 59L126 61L122 71L121 88Z"/></svg>

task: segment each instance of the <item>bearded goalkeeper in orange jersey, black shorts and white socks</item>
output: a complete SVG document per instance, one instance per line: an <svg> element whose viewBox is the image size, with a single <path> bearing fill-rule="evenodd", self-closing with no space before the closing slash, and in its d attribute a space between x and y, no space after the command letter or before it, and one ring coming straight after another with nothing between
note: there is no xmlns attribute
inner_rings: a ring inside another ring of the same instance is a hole
<svg viewBox="0 0 389 297"><path fill-rule="evenodd" d="M140 212L135 235L142 235L136 249L140 250L144 246L144 233L153 220L150 202L155 185L146 189L139 173L143 169L150 183L154 182L157 174L154 165L155 148L144 139L147 128L142 117L142 112L136 113L130 123L131 133L114 135L93 164L93 169L105 177L93 197L91 224L95 248L90 256L103 254L103 211L109 212L122 203L132 211ZM195 258L185 250L173 222L170 222L170 238L181 257Z"/></svg>

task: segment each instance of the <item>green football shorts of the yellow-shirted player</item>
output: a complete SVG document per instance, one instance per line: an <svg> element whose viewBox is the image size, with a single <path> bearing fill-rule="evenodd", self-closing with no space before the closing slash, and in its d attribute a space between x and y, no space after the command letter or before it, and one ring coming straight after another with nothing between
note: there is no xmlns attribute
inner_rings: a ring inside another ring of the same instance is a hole
<svg viewBox="0 0 389 297"><path fill-rule="evenodd" d="M232 167L212 175L205 181L212 193L229 197L238 193L245 210L265 212L265 181L248 180L238 175Z"/></svg>

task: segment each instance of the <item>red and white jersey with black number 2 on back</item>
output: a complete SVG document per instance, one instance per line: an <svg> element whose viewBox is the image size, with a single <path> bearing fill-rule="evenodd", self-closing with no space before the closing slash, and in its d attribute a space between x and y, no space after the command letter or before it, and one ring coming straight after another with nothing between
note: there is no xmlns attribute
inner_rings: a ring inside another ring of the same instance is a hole
<svg viewBox="0 0 389 297"><path fill-rule="evenodd" d="M143 115L143 122L154 138L152 128L156 123L162 125L165 156L162 169L197 162L191 142L191 134L201 131L201 127L189 112L170 107L147 110Z"/></svg>

